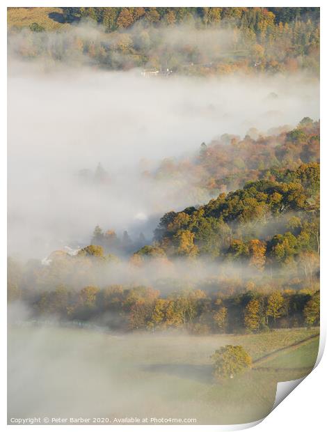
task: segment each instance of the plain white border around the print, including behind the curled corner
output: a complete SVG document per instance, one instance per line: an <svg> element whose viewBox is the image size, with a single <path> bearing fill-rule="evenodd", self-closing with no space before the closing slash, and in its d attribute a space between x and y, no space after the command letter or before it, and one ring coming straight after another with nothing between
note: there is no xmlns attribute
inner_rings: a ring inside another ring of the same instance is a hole
<svg viewBox="0 0 327 432"><path fill-rule="evenodd" d="M273 4L271 4L273 3ZM308 5L308 1L288 1L287 7L306 7ZM200 2L195 1L103 1L98 0L96 3L96 6L200 6ZM321 7L324 3L321 1L314 1L310 6L316 6ZM6 1L6 4L1 5L1 54L3 56L3 59L6 60L6 8L8 6L63 6L63 4L58 5L54 4L54 2L51 1ZM85 6L85 3L83 1L67 1L65 6ZM87 6L90 6L88 3ZM92 5L95 6L95 5ZM227 2L221 2L221 1L206 1L205 6L275 6L275 7L282 7L286 6L285 1L228 1ZM324 23L325 23L325 16L324 16L324 6L321 7L321 46L325 47L324 44L324 38L325 38L325 32L324 32ZM321 50L323 52L323 50ZM1 193L1 201L4 204L3 212L1 212L1 238L0 238L0 254L1 254L1 341L6 341L6 190L7 190L7 183L6 183L6 131L7 131L7 123L6 123L6 61L1 62L1 86L3 88L3 92L1 93L3 95L2 101L2 109L1 109L1 132L2 132L2 140L1 140L1 155L0 155L0 193ZM321 58L321 77L326 76L327 70L326 70L326 61L325 58ZM324 113L325 108L325 100L324 95L326 93L326 87L324 79L321 79L321 113ZM321 128L321 159L324 164L326 163L326 132L324 128L324 123L322 123ZM326 215L325 212L325 196L324 191L326 187L326 171L321 172L321 191L323 192L322 200L321 200L321 211L322 211L322 218L321 220L324 221L324 215ZM323 247L321 248L321 262L324 263L324 258L326 256L325 254L325 248L324 245L326 244L326 229L324 229L324 224L321 226L321 243ZM326 272L324 271L324 266L321 268L321 304L326 303L326 294L324 293L324 281L326 280ZM321 357L321 348L324 346L326 341L326 316L327 314L324 313L324 308L321 308L321 343L319 348L319 357ZM299 385L294 391L292 392L292 396L288 397L286 401L281 403L271 414L264 419L264 422L260 423L258 426L255 427L256 431L276 431L276 429L282 429L283 431L287 431L287 429L292 429L296 431L308 431L308 429L311 429L313 431L322 431L324 429L324 426L326 426L326 406L325 406L325 400L326 400L326 392L324 385L326 385L327 380L327 360L326 355L322 357L321 363L319 364L319 367L317 369L314 369L312 373L310 373L309 378L305 378L303 380L303 383ZM7 426L7 413L6 413L6 357L5 355L1 356L1 373L3 374L3 380L1 381L1 400L0 400L0 410L1 410L1 425L4 426L6 429L10 428L10 430L13 430L15 428L18 428L19 426ZM324 426L323 426L324 425ZM245 426L245 425L244 425ZM26 426L26 427L32 427L33 426ZM38 431L42 431L48 426L38 426ZM79 426L52 426L51 430L56 432L56 430L64 432L66 428L70 430L71 427L79 427ZM93 426L84 426L88 428L93 428ZM95 426L98 427L98 426ZM119 431L126 431L131 430L129 429L129 426L109 426L111 430L118 428ZM133 430L135 429L135 432L138 432L140 430L150 430L159 428L160 431L168 430L173 431L190 431L191 430L207 430L207 431L231 431L239 429L237 425L233 426L154 426L151 428L143 428L143 426L131 426ZM89 429L88 429L89 430Z"/></svg>

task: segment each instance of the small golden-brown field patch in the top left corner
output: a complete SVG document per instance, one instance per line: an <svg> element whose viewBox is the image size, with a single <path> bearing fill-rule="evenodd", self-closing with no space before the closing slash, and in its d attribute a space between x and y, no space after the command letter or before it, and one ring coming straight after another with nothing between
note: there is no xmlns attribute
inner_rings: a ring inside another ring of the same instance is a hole
<svg viewBox="0 0 327 432"><path fill-rule="evenodd" d="M63 24L61 8L7 8L8 27L29 27L37 22L46 30L58 30L70 24Z"/></svg>

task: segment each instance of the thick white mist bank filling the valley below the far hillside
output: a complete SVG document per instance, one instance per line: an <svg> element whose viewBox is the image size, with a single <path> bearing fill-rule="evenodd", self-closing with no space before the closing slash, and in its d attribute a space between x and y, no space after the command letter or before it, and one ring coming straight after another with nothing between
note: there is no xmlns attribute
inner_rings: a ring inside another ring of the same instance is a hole
<svg viewBox="0 0 327 432"><path fill-rule="evenodd" d="M319 118L319 82L305 72L151 79L63 61L45 68L13 53L8 61L8 253L25 258L86 245L96 224L151 240L164 213L210 196L189 178L156 182L145 171L221 134ZM83 183L79 171L99 162L105 184Z"/></svg>

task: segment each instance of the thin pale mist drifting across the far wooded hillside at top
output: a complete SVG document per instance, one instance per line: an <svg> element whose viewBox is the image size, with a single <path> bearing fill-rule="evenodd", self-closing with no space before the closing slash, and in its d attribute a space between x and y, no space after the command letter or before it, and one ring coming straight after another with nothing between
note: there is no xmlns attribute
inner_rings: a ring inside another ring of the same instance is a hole
<svg viewBox="0 0 327 432"><path fill-rule="evenodd" d="M141 52L157 58L157 64L161 62L170 68L193 65L192 59L197 59L200 64L210 64L225 56L238 43L246 45L242 31L197 29L192 24L149 29L143 22L138 22L123 32L106 33L105 30L103 25L90 20L81 20L70 29L56 33L44 34L29 29L16 33L14 30L10 34L9 49L11 54L19 56L33 47L47 67L58 61L70 65L97 65L95 50L100 47L103 56L106 51L113 52L110 59L113 65L128 70L138 66L131 61L129 47L133 44ZM145 63L147 68L155 65L152 61Z"/></svg>

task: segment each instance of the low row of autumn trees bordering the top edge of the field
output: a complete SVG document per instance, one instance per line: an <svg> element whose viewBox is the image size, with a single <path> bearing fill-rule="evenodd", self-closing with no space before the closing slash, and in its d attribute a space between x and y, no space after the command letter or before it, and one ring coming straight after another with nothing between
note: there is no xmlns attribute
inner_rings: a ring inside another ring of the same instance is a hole
<svg viewBox="0 0 327 432"><path fill-rule="evenodd" d="M78 291L61 284L54 291L25 292L24 300L34 318L93 321L120 332L239 333L319 325L319 291L310 289L237 295L189 289L164 296L148 286L85 286Z"/></svg>

